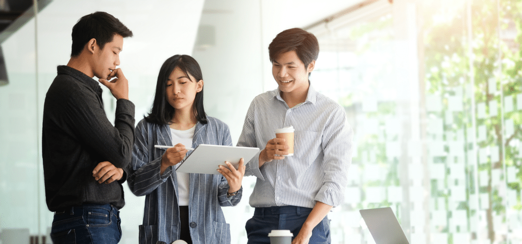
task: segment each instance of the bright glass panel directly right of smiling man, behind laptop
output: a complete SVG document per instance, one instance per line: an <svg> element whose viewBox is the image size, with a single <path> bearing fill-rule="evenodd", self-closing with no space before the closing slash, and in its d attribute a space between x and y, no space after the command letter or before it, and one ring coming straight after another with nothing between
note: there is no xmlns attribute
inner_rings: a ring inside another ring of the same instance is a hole
<svg viewBox="0 0 522 244"><path fill-rule="evenodd" d="M406 14L408 6L403 7ZM328 24L327 32L316 34L321 52L312 85L320 83L319 92L345 107L356 147L345 203L329 214L337 243L373 243L369 230L361 228L360 209L392 207L408 238L409 210L412 206L422 210L422 202L417 206L417 201L409 199L410 192L422 193L421 174L408 177L410 166L422 169L420 148L412 151L414 155L407 150L419 136L412 132L419 126L418 119L410 119L413 111L418 114L418 108L410 106L412 100L418 101L412 95L418 94L417 79L411 79L417 72L411 69L417 50L409 45L416 40L411 30L402 30L405 36L398 37L392 5L377 3L367 8L373 11L355 12L353 22ZM409 14L404 17L411 19L405 23L415 19L414 12ZM411 146L418 147L418 142Z"/></svg>

